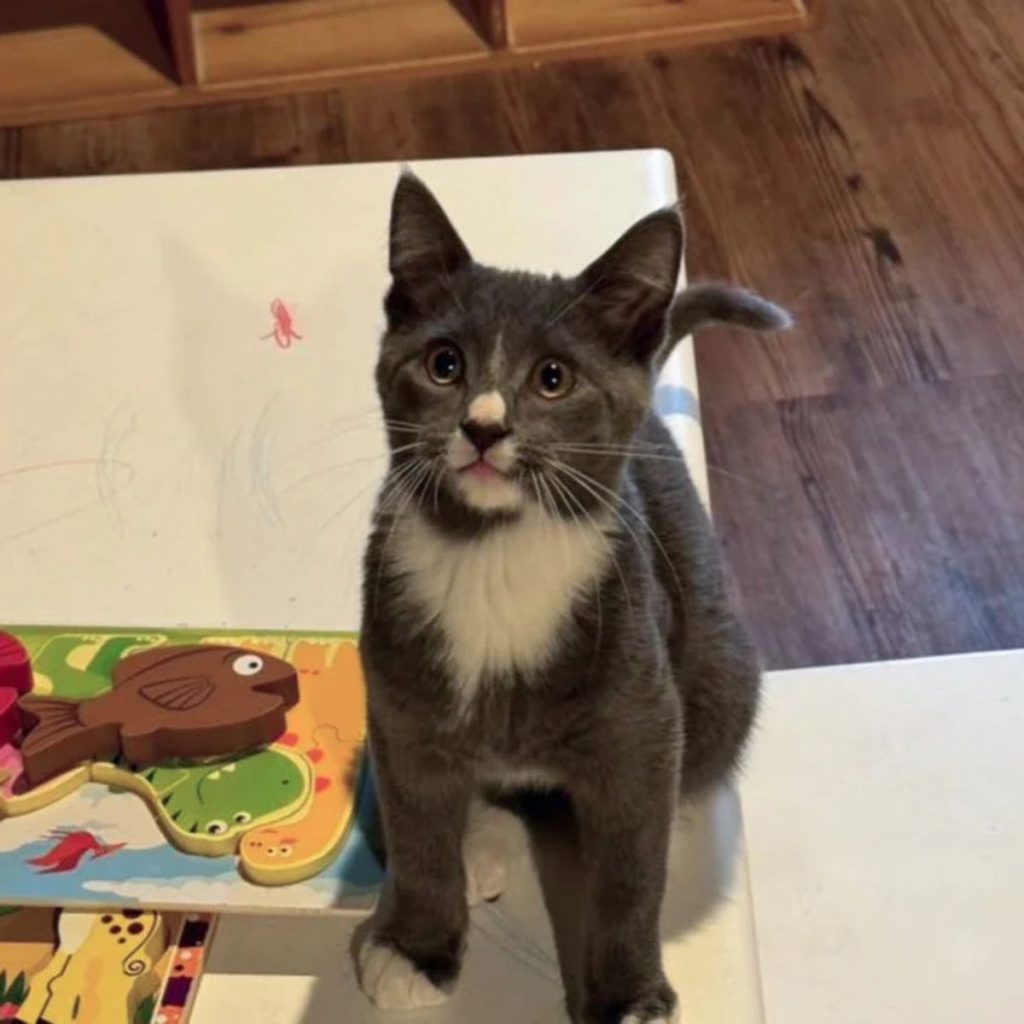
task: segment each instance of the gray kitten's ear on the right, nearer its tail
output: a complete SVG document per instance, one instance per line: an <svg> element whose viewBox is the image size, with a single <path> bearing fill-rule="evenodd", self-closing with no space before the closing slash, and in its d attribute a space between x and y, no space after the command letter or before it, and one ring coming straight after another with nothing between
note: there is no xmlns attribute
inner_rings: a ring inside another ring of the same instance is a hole
<svg viewBox="0 0 1024 1024"><path fill-rule="evenodd" d="M679 214L658 210L634 224L577 279L581 301L602 322L616 352L643 362L657 350L682 258Z"/></svg>

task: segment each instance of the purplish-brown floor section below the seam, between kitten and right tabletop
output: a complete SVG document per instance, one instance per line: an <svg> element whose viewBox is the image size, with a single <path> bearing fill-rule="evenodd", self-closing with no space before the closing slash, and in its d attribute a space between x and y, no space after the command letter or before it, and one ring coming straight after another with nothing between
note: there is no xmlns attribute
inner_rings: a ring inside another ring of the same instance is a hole
<svg viewBox="0 0 1024 1024"><path fill-rule="evenodd" d="M706 408L716 524L767 664L1021 645L1022 400L1006 374Z"/></svg>

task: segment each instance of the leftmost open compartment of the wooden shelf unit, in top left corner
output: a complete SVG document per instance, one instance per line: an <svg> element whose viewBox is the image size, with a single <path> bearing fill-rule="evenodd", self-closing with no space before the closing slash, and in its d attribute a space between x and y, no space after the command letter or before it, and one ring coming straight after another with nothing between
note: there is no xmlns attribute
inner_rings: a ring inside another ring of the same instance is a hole
<svg viewBox="0 0 1024 1024"><path fill-rule="evenodd" d="M176 90L145 0L0 0L0 124Z"/></svg>

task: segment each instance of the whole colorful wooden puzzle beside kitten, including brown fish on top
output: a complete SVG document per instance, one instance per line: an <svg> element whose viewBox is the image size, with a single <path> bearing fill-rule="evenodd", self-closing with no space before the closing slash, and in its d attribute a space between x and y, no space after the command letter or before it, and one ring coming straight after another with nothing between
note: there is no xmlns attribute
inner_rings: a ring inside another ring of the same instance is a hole
<svg viewBox="0 0 1024 1024"><path fill-rule="evenodd" d="M312 909L380 881L351 635L6 627L0 724L0 902Z"/></svg>

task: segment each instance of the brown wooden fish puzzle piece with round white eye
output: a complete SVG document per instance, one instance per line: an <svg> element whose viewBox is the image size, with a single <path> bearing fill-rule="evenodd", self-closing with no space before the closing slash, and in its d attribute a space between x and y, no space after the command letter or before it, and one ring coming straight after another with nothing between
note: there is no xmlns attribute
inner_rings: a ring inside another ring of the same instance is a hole
<svg viewBox="0 0 1024 1024"><path fill-rule="evenodd" d="M119 755L143 767L241 754L280 736L298 699L295 669L271 654L214 644L129 654L101 696L20 698L25 774L38 785Z"/></svg>

